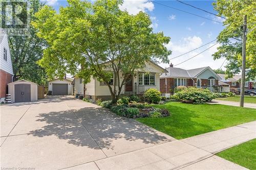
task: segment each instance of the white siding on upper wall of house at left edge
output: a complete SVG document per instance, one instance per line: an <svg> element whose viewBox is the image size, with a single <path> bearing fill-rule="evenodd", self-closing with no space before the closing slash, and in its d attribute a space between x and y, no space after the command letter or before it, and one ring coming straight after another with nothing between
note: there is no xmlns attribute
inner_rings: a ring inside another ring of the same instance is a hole
<svg viewBox="0 0 256 170"><path fill-rule="evenodd" d="M0 36L4 36L2 37L3 39L0 42L0 69L13 75L12 60L11 60L10 48L8 44L8 37L7 35L0 35ZM4 59L4 48L7 50L7 61Z"/></svg>

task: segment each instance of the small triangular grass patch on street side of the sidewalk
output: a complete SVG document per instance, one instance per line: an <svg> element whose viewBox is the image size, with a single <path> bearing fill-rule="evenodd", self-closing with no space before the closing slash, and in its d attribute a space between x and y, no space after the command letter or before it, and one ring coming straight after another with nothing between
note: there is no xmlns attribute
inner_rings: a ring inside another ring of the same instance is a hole
<svg viewBox="0 0 256 170"><path fill-rule="evenodd" d="M239 144L217 154L248 169L256 169L256 139Z"/></svg>

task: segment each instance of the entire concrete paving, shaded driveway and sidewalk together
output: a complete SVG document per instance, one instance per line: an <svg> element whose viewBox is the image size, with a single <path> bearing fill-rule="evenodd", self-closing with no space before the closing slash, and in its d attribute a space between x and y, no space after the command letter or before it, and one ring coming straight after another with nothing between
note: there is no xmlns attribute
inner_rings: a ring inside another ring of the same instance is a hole
<svg viewBox="0 0 256 170"><path fill-rule="evenodd" d="M0 110L3 168L243 169L214 153L255 138L252 122L176 140L72 96Z"/></svg>

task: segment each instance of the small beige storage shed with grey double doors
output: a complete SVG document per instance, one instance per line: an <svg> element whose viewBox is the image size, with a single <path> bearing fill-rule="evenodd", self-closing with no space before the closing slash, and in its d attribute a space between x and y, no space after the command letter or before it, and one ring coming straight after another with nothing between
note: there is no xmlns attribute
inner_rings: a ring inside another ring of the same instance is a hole
<svg viewBox="0 0 256 170"><path fill-rule="evenodd" d="M37 101L37 84L19 80L8 84L8 93L11 94L11 102Z"/></svg>

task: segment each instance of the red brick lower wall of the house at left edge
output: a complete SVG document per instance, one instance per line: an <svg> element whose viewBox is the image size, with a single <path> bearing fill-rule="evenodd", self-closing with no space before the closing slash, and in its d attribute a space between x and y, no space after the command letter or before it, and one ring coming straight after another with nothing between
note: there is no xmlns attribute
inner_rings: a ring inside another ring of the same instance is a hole
<svg viewBox="0 0 256 170"><path fill-rule="evenodd" d="M5 98L8 93L7 84L12 82L12 75L0 69L0 98Z"/></svg>

